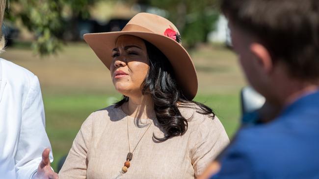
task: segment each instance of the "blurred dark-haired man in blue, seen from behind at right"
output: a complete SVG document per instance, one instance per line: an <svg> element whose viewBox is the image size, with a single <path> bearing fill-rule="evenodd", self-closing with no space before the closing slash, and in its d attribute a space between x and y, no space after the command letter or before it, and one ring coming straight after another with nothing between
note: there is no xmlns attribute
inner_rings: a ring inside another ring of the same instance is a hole
<svg viewBox="0 0 319 179"><path fill-rule="evenodd" d="M205 175L319 179L319 1L222 0L221 9L247 81L267 105Z"/></svg>

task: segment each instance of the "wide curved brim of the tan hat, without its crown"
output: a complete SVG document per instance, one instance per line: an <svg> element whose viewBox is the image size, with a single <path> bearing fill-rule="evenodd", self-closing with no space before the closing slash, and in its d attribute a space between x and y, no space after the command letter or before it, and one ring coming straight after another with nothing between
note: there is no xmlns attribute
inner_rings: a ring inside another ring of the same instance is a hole
<svg viewBox="0 0 319 179"><path fill-rule="evenodd" d="M111 49L115 47L116 40L121 35L133 35L155 45L171 63L185 97L188 100L195 97L198 82L194 64L186 49L175 40L152 32L141 31L90 33L84 34L84 40L109 69L112 61Z"/></svg>

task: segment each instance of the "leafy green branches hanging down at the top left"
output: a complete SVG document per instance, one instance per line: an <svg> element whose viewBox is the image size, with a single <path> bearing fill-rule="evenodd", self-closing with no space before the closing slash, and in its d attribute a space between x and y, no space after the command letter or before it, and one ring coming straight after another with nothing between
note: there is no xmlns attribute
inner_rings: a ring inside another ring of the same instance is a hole
<svg viewBox="0 0 319 179"><path fill-rule="evenodd" d="M61 37L65 25L76 28L77 21L66 24L63 10L70 11L72 20L88 19L89 7L99 0L10 0L6 19L16 21L21 19L30 32L34 32L36 41L33 48L40 55L56 53L61 49ZM74 30L76 32L76 30Z"/></svg>

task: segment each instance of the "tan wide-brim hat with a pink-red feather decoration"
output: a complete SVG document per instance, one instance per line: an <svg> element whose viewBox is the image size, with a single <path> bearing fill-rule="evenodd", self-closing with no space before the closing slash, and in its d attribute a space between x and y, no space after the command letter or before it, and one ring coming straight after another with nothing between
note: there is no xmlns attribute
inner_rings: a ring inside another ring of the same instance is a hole
<svg viewBox="0 0 319 179"><path fill-rule="evenodd" d="M155 14L138 13L122 31L84 34L84 40L109 69L112 49L121 35L133 35L155 45L171 63L185 97L188 100L195 97L198 88L196 70L189 54L179 43L180 35L172 22Z"/></svg>

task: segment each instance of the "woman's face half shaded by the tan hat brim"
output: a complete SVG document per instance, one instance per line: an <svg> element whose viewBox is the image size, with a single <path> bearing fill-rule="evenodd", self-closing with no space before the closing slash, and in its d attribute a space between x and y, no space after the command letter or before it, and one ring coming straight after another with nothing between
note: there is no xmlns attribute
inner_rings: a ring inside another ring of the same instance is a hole
<svg viewBox="0 0 319 179"><path fill-rule="evenodd" d="M148 70L149 59L142 39L122 35L112 50L111 78L117 91L126 95L141 95L141 84Z"/></svg>

